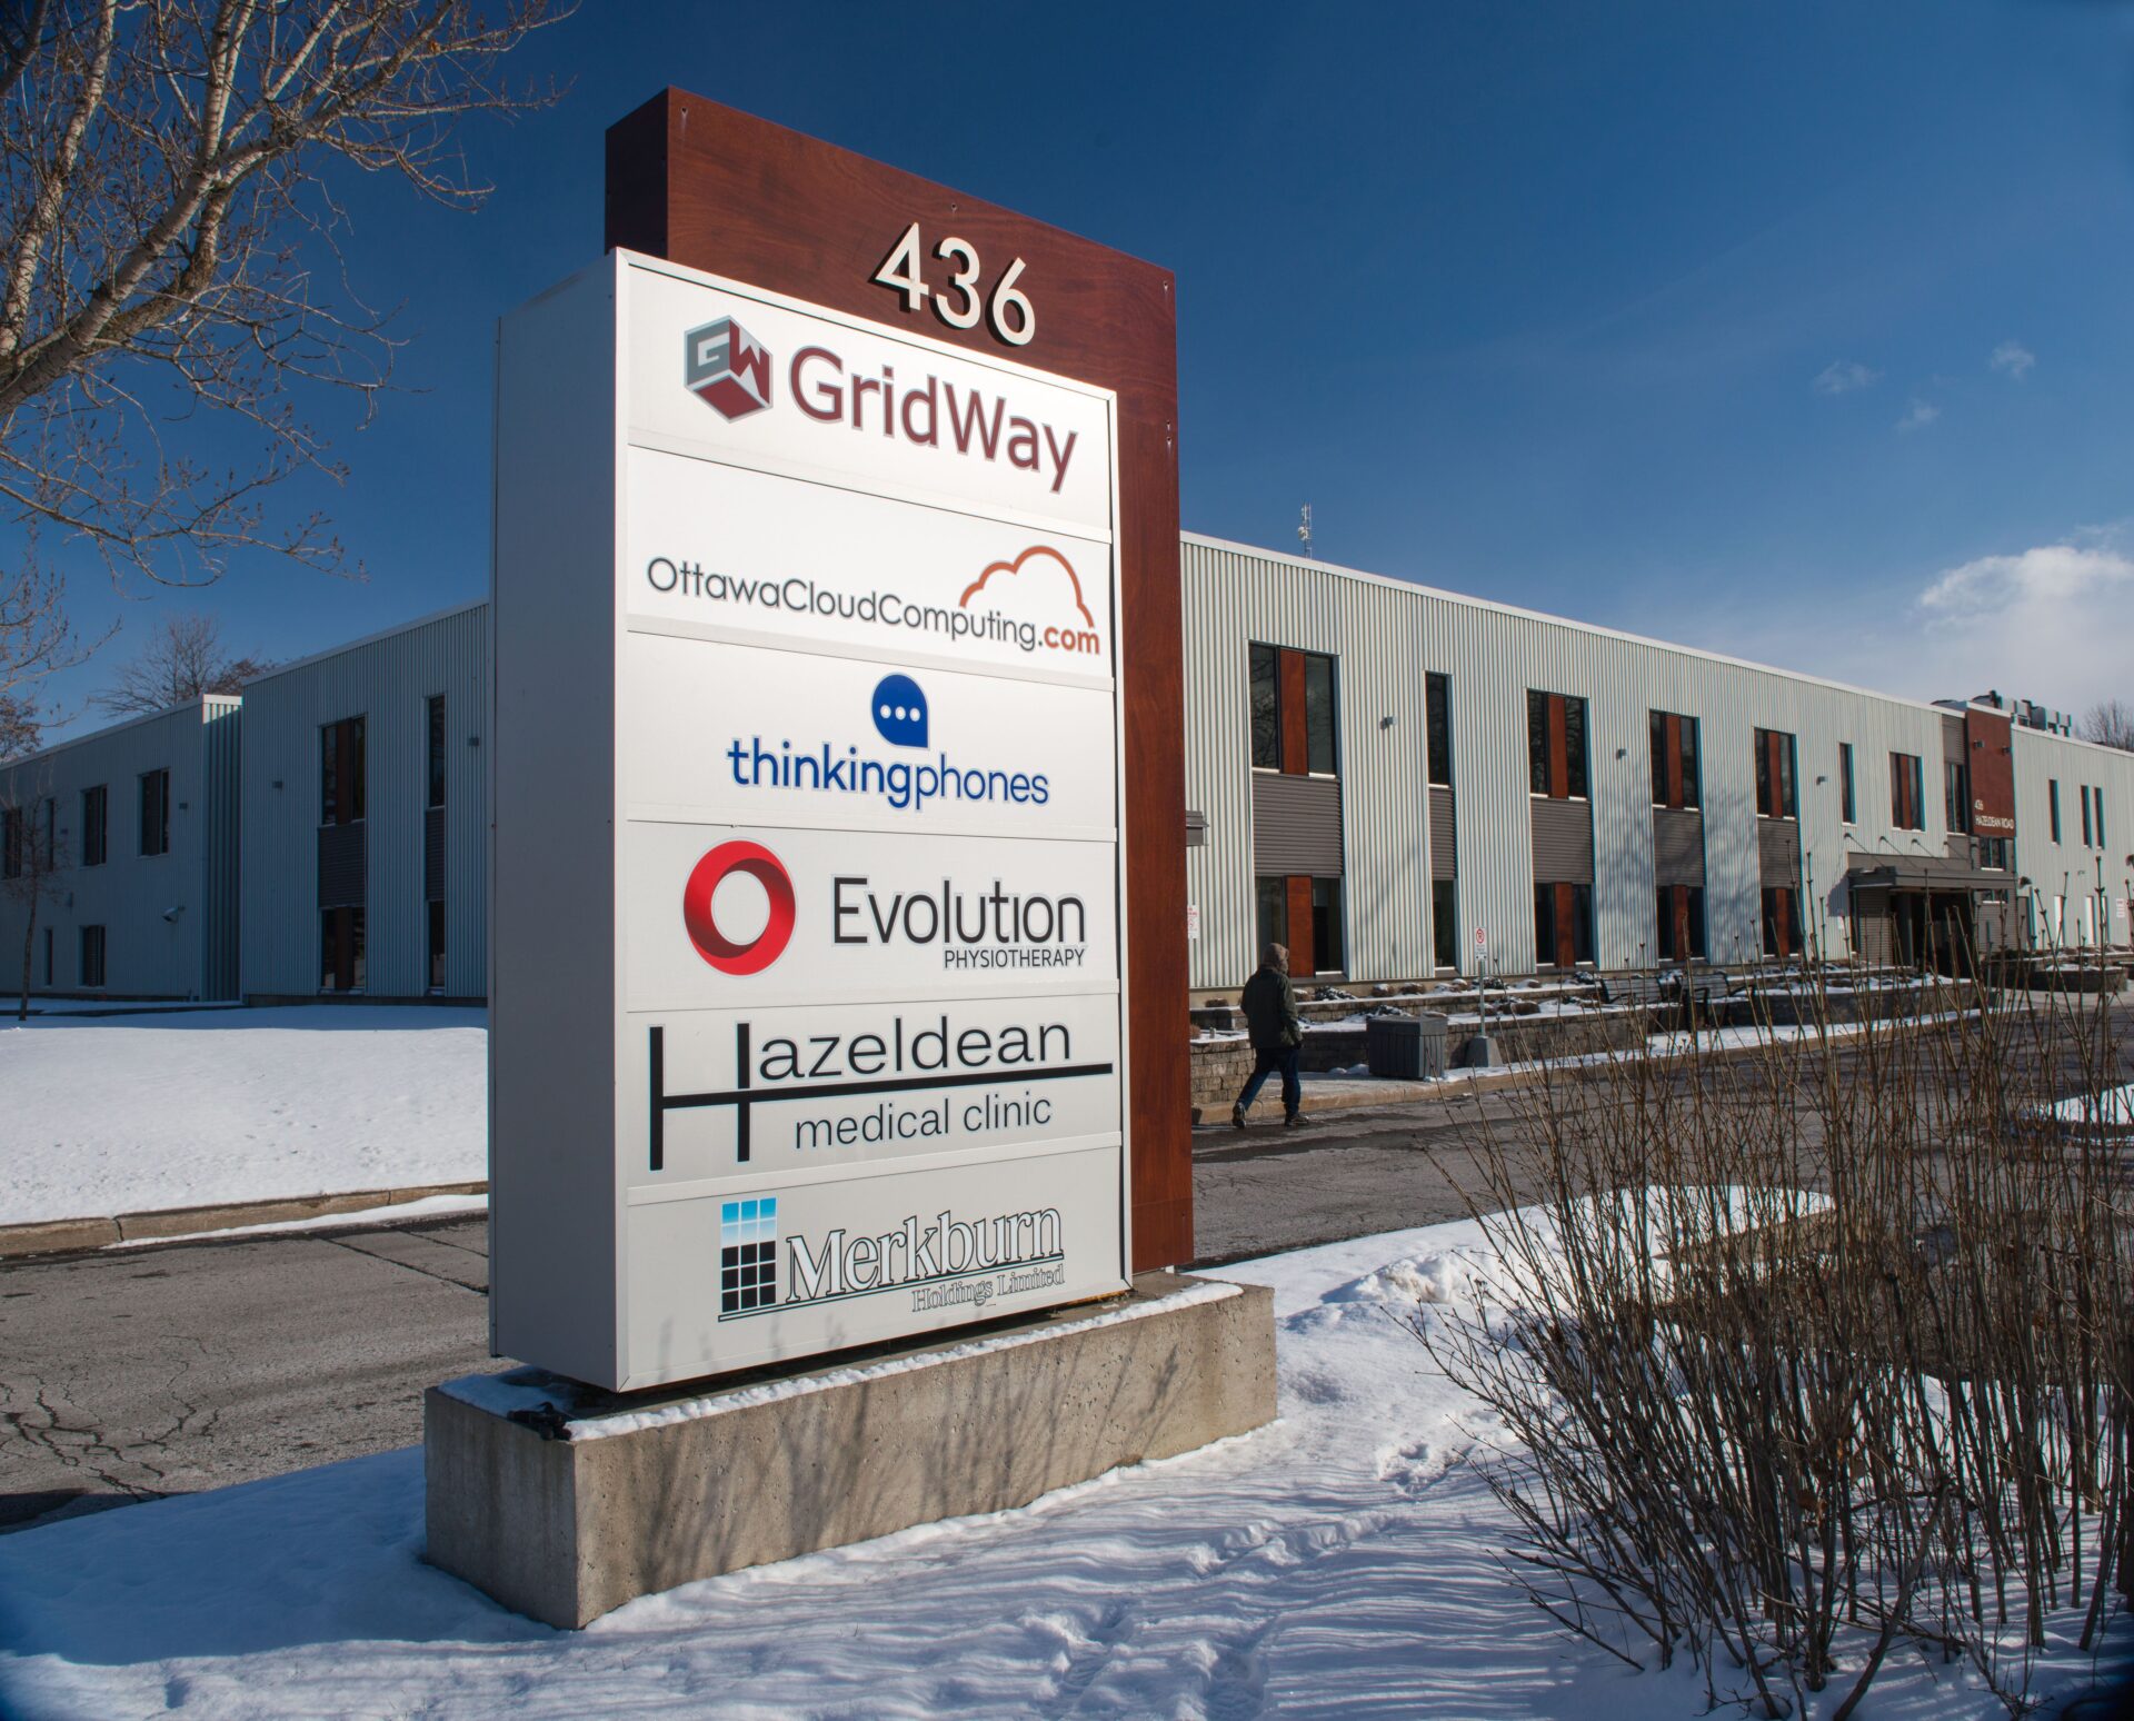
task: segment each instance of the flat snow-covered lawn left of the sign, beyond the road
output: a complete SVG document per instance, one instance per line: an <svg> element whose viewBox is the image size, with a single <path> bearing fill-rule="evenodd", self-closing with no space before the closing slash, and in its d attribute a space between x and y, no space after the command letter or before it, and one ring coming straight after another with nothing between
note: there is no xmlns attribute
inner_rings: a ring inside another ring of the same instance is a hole
<svg viewBox="0 0 2134 1721"><path fill-rule="evenodd" d="M391 1004L0 1023L0 1223L472 1183L484 1042Z"/></svg>

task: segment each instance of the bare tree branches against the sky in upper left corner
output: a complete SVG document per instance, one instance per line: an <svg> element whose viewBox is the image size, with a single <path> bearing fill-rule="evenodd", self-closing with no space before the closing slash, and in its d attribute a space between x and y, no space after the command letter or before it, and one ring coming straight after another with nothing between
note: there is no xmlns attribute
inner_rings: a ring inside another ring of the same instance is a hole
<svg viewBox="0 0 2134 1721"><path fill-rule="evenodd" d="M38 527L113 579L198 585L254 547L346 566L322 515L267 506L297 472L341 474L294 401L346 393L367 414L391 380L324 173L478 205L455 124L555 98L504 85L499 62L570 4L0 9L0 517L32 534L0 572L0 692L83 651Z"/></svg>

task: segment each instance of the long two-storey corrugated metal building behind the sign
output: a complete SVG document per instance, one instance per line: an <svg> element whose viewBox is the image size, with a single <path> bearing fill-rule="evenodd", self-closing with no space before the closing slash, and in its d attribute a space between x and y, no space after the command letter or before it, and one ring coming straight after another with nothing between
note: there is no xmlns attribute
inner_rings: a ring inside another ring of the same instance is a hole
<svg viewBox="0 0 2134 1721"><path fill-rule="evenodd" d="M2130 942L2134 754L2027 700L1180 564L1195 991ZM478 999L487 743L474 602L0 769L0 972L34 895L34 993Z"/></svg>

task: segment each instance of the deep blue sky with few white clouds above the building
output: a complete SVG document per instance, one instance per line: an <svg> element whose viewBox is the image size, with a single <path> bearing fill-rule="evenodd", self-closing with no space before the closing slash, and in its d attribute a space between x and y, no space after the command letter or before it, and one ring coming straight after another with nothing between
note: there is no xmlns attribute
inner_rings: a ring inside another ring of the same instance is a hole
<svg viewBox="0 0 2134 1721"><path fill-rule="evenodd" d="M237 649L476 598L495 316L593 260L666 83L1178 275L1182 519L1940 696L2134 698L2134 13L1933 4L602 4L474 124L474 216L339 190L410 344L324 491L363 581L109 591ZM307 502L309 498L305 498ZM299 495L290 495L299 504ZM79 705L109 662L68 675Z"/></svg>

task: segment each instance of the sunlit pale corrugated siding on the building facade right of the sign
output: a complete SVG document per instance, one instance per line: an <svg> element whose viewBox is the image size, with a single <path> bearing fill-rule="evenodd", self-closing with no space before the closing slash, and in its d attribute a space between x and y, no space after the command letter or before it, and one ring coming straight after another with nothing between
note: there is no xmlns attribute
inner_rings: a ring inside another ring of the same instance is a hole
<svg viewBox="0 0 2134 1721"><path fill-rule="evenodd" d="M1210 822L1208 848L1187 854L1201 912L1195 986L1238 984L1253 967L1251 641L1334 651L1342 660L1349 974L1355 980L1430 972L1430 820L1421 811L1428 805L1426 670L1451 679L1464 920L1455 944L1468 972L1475 967L1475 927L1487 931L1492 972L1534 965L1528 688L1588 700L1603 967L1650 961L1656 937L1650 711L1701 720L1705 916L1714 961L1750 961L1763 942L1756 728L1795 735L1799 743L1801 918L1816 948L1846 950L1848 837L1859 850L1940 852L1940 831L1897 833L1886 805L1889 754L1938 752L1944 713L1931 707L1193 536L1182 542L1180 566L1187 805L1206 807ZM1857 756L1859 824L1850 833L1840 822L1840 741L1850 741ZM1929 822L1938 826L1936 807L1929 799ZM2072 807L2070 788L2070 814ZM2119 828L2134 826L2121 822Z"/></svg>

